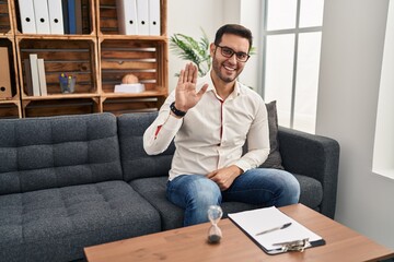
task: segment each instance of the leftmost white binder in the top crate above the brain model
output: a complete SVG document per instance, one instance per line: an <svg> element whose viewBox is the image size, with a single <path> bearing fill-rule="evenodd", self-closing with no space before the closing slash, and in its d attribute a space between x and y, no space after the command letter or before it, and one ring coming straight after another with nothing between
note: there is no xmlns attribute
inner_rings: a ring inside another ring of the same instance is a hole
<svg viewBox="0 0 394 262"><path fill-rule="evenodd" d="M120 35L138 35L137 31L137 1L117 0L118 27Z"/></svg>

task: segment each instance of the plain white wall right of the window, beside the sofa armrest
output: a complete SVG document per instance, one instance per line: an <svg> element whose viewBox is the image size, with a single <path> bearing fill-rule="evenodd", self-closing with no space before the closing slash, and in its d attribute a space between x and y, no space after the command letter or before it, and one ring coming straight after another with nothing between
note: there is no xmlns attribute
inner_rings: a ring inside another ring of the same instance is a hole
<svg viewBox="0 0 394 262"><path fill-rule="evenodd" d="M336 221L394 248L394 180L372 172L387 8L325 1L316 133L341 147Z"/></svg>

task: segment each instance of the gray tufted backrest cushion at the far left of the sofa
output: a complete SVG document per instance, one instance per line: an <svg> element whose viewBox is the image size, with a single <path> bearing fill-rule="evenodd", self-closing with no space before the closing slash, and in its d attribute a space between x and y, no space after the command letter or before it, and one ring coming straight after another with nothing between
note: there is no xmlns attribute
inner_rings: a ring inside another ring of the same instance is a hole
<svg viewBox="0 0 394 262"><path fill-rule="evenodd" d="M0 194L123 179L116 117L0 120Z"/></svg>

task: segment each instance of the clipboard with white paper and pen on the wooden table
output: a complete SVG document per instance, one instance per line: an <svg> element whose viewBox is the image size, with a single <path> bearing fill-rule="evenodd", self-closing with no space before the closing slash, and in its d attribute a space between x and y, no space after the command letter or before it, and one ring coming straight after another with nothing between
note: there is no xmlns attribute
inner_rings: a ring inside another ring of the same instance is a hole
<svg viewBox="0 0 394 262"><path fill-rule="evenodd" d="M228 215L257 247L267 254L304 251L325 245L325 240L275 206L232 213ZM280 225L291 226L281 228ZM273 230L274 229L274 230ZM262 234L262 233L267 234Z"/></svg>

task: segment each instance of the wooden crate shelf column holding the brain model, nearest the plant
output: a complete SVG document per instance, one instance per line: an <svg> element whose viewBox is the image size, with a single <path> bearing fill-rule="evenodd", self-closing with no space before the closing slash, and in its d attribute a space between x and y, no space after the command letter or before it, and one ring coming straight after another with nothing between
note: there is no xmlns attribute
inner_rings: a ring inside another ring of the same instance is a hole
<svg viewBox="0 0 394 262"><path fill-rule="evenodd" d="M157 110L167 96L169 57L166 0L161 5L160 36L119 35L115 0L100 0L96 5L101 107L103 111ZM141 94L114 93L121 78L135 74L146 86Z"/></svg>

